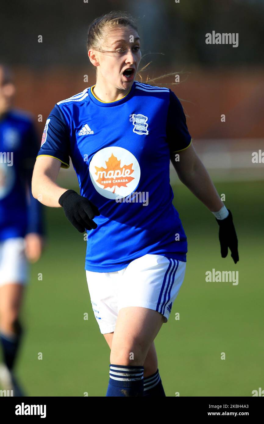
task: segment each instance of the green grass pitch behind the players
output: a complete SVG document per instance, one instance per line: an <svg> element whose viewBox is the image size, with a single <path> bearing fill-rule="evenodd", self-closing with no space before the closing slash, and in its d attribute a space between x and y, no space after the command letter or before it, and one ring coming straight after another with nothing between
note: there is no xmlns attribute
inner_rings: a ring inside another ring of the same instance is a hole
<svg viewBox="0 0 264 424"><path fill-rule="evenodd" d="M166 396L252 396L253 390L264 388L263 183L216 187L233 213L237 265L230 254L220 256L214 216L182 184L173 187L189 251L185 280L156 338ZM17 374L28 396L105 396L110 350L90 304L86 242L62 209L45 210L48 245L31 266ZM212 268L239 271L239 284L206 282L205 273ZM83 319L86 312L88 321Z"/></svg>

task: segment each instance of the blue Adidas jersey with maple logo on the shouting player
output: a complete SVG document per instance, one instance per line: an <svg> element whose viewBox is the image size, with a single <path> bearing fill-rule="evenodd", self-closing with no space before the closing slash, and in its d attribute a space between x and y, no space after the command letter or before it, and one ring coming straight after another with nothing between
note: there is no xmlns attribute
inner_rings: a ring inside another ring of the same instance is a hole
<svg viewBox="0 0 264 424"><path fill-rule="evenodd" d="M145 254L186 262L187 241L172 205L170 152L191 143L183 108L168 88L133 82L120 100L86 88L52 109L38 156L78 177L99 211L87 232L85 269L111 272Z"/></svg>

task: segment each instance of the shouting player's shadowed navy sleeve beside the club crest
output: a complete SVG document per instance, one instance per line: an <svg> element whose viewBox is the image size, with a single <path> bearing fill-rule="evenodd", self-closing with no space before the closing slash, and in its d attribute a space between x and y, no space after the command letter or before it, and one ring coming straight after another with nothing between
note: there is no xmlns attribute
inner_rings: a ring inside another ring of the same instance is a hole
<svg viewBox="0 0 264 424"><path fill-rule="evenodd" d="M180 100L171 89L166 133L171 153L186 149L192 142L192 137L187 128L183 107L181 106Z"/></svg>

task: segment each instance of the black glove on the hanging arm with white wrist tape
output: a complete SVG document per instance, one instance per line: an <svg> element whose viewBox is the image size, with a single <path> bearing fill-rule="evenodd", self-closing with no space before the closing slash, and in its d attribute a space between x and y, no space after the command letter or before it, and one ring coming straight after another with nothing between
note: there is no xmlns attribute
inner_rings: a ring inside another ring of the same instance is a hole
<svg viewBox="0 0 264 424"><path fill-rule="evenodd" d="M220 240L220 246L221 246L221 256L222 258L227 257L228 254L228 247L231 250L231 257L233 258L233 261L238 262L239 256L238 256L238 250L237 250L237 237L236 237L236 230L233 224L233 217L228 209L228 216L225 219L217 219L217 223L219 225L219 240Z"/></svg>

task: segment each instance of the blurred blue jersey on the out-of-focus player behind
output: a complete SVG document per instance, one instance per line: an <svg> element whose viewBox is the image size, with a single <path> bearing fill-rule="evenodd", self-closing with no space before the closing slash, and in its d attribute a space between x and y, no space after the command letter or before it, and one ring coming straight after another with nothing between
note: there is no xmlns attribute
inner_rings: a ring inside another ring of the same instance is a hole
<svg viewBox="0 0 264 424"><path fill-rule="evenodd" d="M27 114L0 116L0 240L43 234L42 204L33 198L31 177L39 143Z"/></svg>

